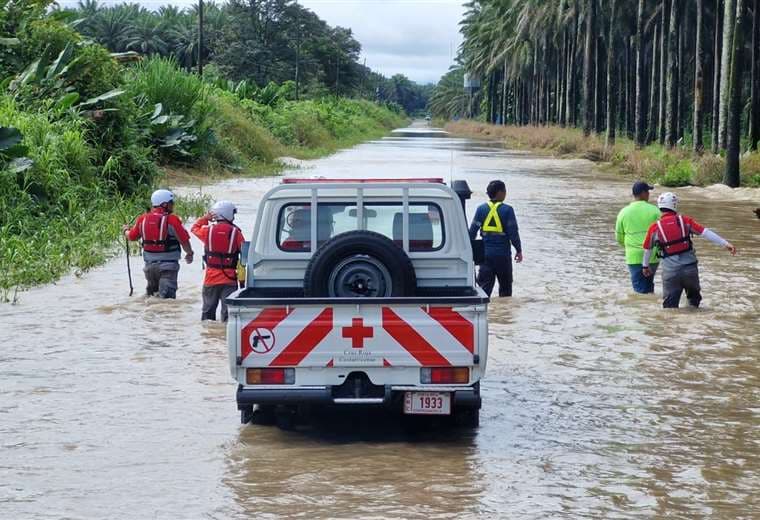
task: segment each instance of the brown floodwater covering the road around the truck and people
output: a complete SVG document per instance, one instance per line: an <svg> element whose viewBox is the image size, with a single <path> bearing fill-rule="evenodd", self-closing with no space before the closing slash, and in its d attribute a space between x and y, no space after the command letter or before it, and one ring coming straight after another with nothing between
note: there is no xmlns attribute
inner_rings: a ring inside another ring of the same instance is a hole
<svg viewBox="0 0 760 520"><path fill-rule="evenodd" d="M588 162L389 138L288 174L507 182L525 262L490 307L480 429L241 426L224 329L199 321L199 263L163 302L127 296L121 257L0 306L0 517L760 517L751 202L679 192L740 255L696 239L704 308L664 311L631 294L614 242L629 182ZM203 191L236 201L250 232L277 182Z"/></svg>

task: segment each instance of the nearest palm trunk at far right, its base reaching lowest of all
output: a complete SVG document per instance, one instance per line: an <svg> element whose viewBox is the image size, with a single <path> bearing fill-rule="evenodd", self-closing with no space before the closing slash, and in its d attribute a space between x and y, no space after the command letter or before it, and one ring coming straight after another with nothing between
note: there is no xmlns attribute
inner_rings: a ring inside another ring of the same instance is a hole
<svg viewBox="0 0 760 520"><path fill-rule="evenodd" d="M739 171L739 153L741 146L741 94L742 75L744 72L744 0L736 2L736 24L734 39L731 45L730 93L728 110L728 135L726 136L726 175L723 183L732 188L739 187L741 175Z"/></svg>

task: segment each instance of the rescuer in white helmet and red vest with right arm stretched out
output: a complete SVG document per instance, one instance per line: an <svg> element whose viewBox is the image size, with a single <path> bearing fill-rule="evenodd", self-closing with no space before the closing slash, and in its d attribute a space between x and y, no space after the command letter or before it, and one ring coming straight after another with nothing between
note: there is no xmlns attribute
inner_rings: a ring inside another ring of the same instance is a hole
<svg viewBox="0 0 760 520"><path fill-rule="evenodd" d="M658 246L662 257L662 306L677 308L681 301L681 293L686 291L689 305L699 307L702 293L699 286L697 255L691 236L701 235L732 255L736 254L736 248L693 218L679 215L678 197L675 194L663 193L657 198L657 206L662 212L662 217L649 227L644 238L644 276L654 276L650 261L652 249Z"/></svg>

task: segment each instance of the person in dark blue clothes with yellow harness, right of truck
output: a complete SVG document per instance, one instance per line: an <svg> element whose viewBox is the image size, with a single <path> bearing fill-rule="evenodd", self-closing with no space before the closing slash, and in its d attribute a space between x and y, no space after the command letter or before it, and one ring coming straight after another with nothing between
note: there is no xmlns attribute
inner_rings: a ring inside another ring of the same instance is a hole
<svg viewBox="0 0 760 520"><path fill-rule="evenodd" d="M512 247L515 262L523 260L515 210L504 203L507 187L502 181L491 181L486 194L490 200L478 207L470 224L470 238L475 239L480 231L485 252L478 285L490 296L498 278L499 296L512 296Z"/></svg>

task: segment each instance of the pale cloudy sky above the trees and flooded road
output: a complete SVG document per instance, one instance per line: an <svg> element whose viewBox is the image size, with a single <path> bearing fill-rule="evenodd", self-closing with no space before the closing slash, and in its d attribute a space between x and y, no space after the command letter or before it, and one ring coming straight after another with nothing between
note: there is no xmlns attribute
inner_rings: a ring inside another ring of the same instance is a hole
<svg viewBox="0 0 760 520"><path fill-rule="evenodd" d="M149 9L196 0L136 0ZM75 0L63 0L71 5ZM121 0L102 0L112 5ZM362 44L362 58L386 76L401 73L421 83L436 82L461 42L464 0L298 0L330 25L350 27ZM452 50L453 49L453 50Z"/></svg>

